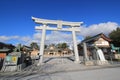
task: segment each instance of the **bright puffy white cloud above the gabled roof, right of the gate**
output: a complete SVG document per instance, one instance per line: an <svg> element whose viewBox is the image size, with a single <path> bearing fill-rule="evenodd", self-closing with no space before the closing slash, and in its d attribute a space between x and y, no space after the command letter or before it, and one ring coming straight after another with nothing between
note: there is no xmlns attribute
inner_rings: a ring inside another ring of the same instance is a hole
<svg viewBox="0 0 120 80"><path fill-rule="evenodd" d="M115 22L107 22L107 23L100 23L100 24L93 24L88 27L81 26L81 32L79 35L85 36L93 36L99 33L104 33L108 35L111 31L115 30L119 25Z"/></svg>

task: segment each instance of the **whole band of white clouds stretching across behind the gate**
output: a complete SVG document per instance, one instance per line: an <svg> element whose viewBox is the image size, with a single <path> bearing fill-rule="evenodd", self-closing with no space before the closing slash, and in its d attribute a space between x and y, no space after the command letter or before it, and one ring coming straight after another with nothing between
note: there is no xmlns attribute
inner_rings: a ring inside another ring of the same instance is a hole
<svg viewBox="0 0 120 80"><path fill-rule="evenodd" d="M99 33L109 34L112 30L115 30L119 25L115 22L107 22L100 24L93 24L88 27L81 26L80 33L77 33L77 41L80 42L85 36L94 36ZM81 37L82 36L82 37ZM0 36L0 42L16 41L16 43L30 44L31 42L40 43L41 31L33 34L33 36ZM46 35L46 44L51 43L71 43L73 42L71 32L51 31Z"/></svg>

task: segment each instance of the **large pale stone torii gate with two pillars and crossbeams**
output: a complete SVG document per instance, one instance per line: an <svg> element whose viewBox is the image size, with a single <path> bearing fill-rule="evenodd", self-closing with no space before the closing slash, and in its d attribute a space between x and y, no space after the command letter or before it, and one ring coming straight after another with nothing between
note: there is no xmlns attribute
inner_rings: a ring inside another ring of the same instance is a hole
<svg viewBox="0 0 120 80"><path fill-rule="evenodd" d="M76 27L80 27L80 25L83 22L68 22L68 21L61 21L61 20L47 20L47 19L40 19L40 18L35 18L35 17L32 17L32 20L37 24L42 24L42 26L35 26L36 30L42 30L42 37L41 37L41 43L40 43L39 64L43 62L46 30L71 31L72 32L72 38L73 38L75 63L80 62L78 49L77 49L77 41L76 41L76 31L80 31L80 30L77 29ZM49 27L48 25L50 25L50 24L56 25L57 28ZM70 26L70 28L62 28L63 26Z"/></svg>

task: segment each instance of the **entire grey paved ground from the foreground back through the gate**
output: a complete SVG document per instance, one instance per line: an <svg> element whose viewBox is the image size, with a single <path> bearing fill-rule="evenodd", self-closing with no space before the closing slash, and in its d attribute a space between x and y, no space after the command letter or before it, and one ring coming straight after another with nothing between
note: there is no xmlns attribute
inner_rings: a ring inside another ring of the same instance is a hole
<svg viewBox="0 0 120 80"><path fill-rule="evenodd" d="M41 66L20 72L0 72L0 80L119 80L120 64L85 66L72 58L46 58Z"/></svg>

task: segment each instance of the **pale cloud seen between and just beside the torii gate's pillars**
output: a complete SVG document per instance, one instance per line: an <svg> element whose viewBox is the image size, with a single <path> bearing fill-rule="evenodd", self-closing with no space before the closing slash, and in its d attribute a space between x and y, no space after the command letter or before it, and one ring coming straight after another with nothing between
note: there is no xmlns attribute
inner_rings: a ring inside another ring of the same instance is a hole
<svg viewBox="0 0 120 80"><path fill-rule="evenodd" d="M33 40L31 42L40 43L41 33L35 33L33 35ZM77 38L77 42L79 43L81 40ZM68 43L73 44L72 32L62 32L62 31L51 31L46 35L45 44L57 44L57 43Z"/></svg>

